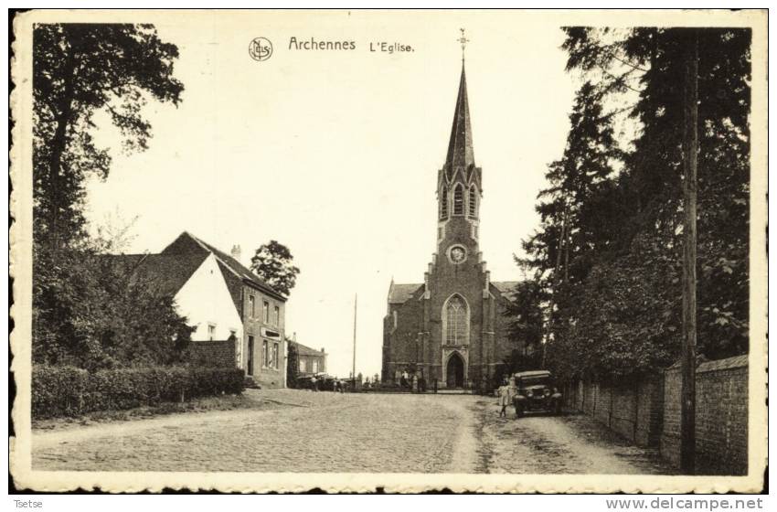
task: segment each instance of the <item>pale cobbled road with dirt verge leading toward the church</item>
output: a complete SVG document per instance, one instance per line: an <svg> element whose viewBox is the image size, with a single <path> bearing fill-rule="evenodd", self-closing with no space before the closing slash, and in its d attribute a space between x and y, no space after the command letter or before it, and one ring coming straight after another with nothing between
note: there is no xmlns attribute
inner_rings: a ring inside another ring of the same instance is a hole
<svg viewBox="0 0 777 512"><path fill-rule="evenodd" d="M254 390L273 407L33 432L33 468L69 471L659 474L655 454L582 416L498 417L468 395Z"/></svg>

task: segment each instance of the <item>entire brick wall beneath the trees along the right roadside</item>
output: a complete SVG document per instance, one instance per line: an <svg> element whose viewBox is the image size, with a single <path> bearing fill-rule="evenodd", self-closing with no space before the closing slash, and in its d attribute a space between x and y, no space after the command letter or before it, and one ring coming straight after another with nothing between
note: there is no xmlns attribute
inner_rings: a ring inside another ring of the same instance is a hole
<svg viewBox="0 0 777 512"><path fill-rule="evenodd" d="M565 392L568 410L580 411L639 446L657 446L671 464L680 460L680 368L625 384L579 380ZM748 471L748 357L697 368L697 474Z"/></svg>

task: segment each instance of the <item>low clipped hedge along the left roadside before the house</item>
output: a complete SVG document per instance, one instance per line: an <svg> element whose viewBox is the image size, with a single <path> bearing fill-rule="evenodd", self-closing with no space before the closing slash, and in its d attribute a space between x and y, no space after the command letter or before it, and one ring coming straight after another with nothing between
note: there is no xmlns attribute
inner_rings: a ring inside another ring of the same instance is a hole
<svg viewBox="0 0 777 512"><path fill-rule="evenodd" d="M238 394L243 371L235 368L146 367L103 369L36 366L32 370L32 417L78 416L132 409L163 401Z"/></svg>

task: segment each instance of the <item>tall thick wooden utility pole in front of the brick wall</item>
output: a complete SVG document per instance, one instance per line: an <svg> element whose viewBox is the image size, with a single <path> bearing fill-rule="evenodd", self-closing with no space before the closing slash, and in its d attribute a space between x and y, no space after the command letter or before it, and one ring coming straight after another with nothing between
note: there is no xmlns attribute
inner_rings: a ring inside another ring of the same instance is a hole
<svg viewBox="0 0 777 512"><path fill-rule="evenodd" d="M680 415L680 468L696 472L696 203L698 166L698 32L687 29L685 41L683 133L683 352Z"/></svg>

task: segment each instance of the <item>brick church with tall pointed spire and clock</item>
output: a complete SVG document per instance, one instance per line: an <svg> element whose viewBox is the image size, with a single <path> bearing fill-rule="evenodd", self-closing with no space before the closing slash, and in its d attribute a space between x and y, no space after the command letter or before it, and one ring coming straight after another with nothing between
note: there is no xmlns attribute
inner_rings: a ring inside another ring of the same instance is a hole
<svg viewBox="0 0 777 512"><path fill-rule="evenodd" d="M491 281L478 247L483 172L475 165L462 62L445 164L437 175L437 243L423 283L389 286L383 376L416 373L428 386L491 384L498 365L521 349L507 336L506 304L516 282Z"/></svg>

